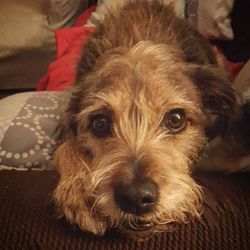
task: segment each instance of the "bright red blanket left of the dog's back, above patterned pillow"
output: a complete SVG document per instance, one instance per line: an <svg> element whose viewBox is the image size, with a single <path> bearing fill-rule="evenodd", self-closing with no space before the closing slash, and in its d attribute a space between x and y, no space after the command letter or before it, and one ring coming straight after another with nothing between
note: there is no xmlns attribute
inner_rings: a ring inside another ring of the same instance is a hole
<svg viewBox="0 0 250 250"><path fill-rule="evenodd" d="M38 83L37 90L63 91L74 84L82 48L88 35L94 31L94 28L83 25L94 10L95 6L80 15L74 27L55 32L57 57L49 65L47 74Z"/></svg>

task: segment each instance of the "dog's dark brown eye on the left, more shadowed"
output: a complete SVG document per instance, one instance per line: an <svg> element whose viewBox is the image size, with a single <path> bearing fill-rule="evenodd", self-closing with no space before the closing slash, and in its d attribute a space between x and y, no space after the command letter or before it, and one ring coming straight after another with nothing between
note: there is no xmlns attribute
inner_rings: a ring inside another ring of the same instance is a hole
<svg viewBox="0 0 250 250"><path fill-rule="evenodd" d="M110 118L105 115L95 115L90 118L91 132L99 138L109 136L110 134Z"/></svg>

